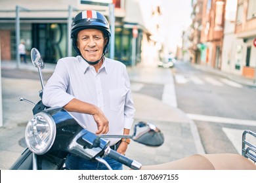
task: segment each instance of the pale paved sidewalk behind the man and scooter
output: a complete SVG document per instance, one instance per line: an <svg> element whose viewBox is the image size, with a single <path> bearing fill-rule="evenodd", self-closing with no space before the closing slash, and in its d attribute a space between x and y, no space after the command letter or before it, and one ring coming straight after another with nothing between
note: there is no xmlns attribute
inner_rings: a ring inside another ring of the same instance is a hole
<svg viewBox="0 0 256 183"><path fill-rule="evenodd" d="M2 62L1 67L14 69L16 63ZM20 69L37 72L31 63L20 65ZM52 73L53 69L54 64L46 63L43 73ZM165 137L164 144L158 148L132 142L127 150L127 157L139 161L142 165L153 165L204 153L196 125L177 108L171 70L154 65L137 65L133 68L127 67L127 70L137 110L135 124L139 121L151 122L159 127ZM152 97L145 86L157 86L154 92L159 91L161 99ZM36 102L39 100L40 89L39 80L2 78L3 127L0 128L0 169L9 169L26 146L24 131L28 120L32 118L32 106L20 102L19 98L24 97Z"/></svg>

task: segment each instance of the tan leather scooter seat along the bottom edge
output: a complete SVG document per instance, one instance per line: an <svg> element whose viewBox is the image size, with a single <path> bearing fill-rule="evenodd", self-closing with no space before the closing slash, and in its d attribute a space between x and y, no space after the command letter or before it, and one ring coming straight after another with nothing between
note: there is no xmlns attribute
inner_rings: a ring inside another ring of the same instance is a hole
<svg viewBox="0 0 256 183"><path fill-rule="evenodd" d="M141 170L256 170L256 165L239 154L194 154L169 163L145 165Z"/></svg>

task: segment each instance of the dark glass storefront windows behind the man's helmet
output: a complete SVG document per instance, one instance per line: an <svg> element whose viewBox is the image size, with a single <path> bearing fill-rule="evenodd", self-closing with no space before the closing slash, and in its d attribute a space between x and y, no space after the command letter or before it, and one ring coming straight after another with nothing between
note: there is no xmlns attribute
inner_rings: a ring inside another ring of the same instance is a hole
<svg viewBox="0 0 256 183"><path fill-rule="evenodd" d="M68 35L66 19L58 20L20 20L20 41L26 43L27 58L30 50L35 47L47 63L56 63L59 58L68 56ZM1 53L2 60L16 59L16 33L14 20L12 23L1 24ZM139 29L136 39L136 63L140 61L142 30ZM114 59L131 65L133 50L133 29L125 25L116 26ZM75 56L72 49L72 56ZM107 55L108 56L108 55Z"/></svg>

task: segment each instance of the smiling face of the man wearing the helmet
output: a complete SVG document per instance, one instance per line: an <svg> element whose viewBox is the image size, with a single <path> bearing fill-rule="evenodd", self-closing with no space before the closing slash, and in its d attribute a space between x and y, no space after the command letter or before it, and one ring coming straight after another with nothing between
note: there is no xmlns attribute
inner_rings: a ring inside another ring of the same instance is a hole
<svg viewBox="0 0 256 183"><path fill-rule="evenodd" d="M77 34L77 48L87 61L97 61L102 56L106 40L98 29L83 29Z"/></svg>

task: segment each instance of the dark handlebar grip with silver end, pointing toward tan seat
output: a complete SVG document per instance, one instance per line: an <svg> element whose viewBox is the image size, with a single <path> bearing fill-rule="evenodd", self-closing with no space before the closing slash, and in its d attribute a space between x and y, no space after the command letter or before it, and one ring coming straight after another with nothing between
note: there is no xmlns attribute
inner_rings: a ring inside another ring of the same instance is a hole
<svg viewBox="0 0 256 183"><path fill-rule="evenodd" d="M141 168L141 164L133 159L129 159L126 156L123 156L119 154L118 152L112 150L110 147L108 147L107 150L107 156L115 159L119 163L122 163L123 165L126 165L127 167L130 167L131 169L139 170Z"/></svg>

